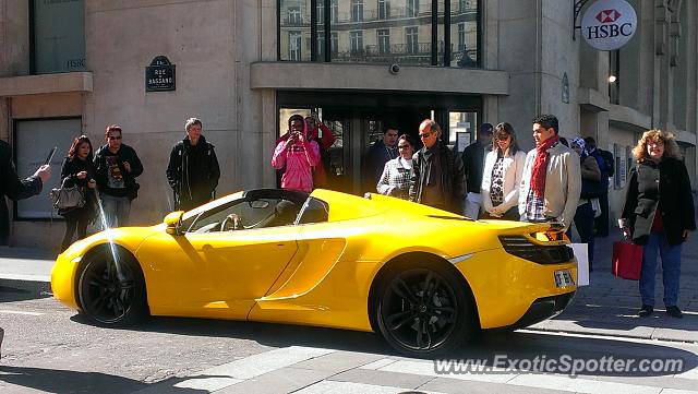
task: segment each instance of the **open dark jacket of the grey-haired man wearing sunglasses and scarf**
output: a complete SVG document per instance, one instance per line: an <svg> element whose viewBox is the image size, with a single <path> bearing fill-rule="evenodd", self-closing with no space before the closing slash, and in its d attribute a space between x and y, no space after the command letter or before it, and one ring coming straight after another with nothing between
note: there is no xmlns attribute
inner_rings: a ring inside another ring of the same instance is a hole
<svg viewBox="0 0 698 394"><path fill-rule="evenodd" d="M442 192L444 201L447 204L448 211L460 215L462 214L462 199L466 194L466 180L464 176L462 160L460 159L460 155L455 153L453 150L449 150L448 146L441 141L438 141L437 144L440 162L442 164L441 184L443 188ZM424 189L428 180L426 169L429 163L424 157L425 151L426 147L422 147L412 156L409 195L410 201L418 203L422 200L422 190Z"/></svg>

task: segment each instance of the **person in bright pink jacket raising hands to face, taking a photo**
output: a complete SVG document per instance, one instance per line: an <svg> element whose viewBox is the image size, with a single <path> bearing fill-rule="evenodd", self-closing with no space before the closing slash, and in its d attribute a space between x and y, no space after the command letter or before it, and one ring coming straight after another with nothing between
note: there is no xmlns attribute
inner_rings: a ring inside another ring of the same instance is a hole
<svg viewBox="0 0 698 394"><path fill-rule="evenodd" d="M320 162L317 142L308 138L308 127L302 116L293 115L288 119L289 138L280 141L274 150L272 166L276 169L286 167L281 176L281 188L313 191L312 169Z"/></svg>

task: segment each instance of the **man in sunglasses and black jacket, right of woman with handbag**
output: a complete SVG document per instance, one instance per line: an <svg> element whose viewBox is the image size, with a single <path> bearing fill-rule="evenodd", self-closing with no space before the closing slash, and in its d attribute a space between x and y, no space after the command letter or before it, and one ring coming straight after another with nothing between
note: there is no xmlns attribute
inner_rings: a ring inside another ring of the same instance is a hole
<svg viewBox="0 0 698 394"><path fill-rule="evenodd" d="M143 174L143 165L135 151L121 142L121 127L107 127L105 140L107 143L95 153L99 200L107 227L124 227L129 225L131 201L139 195L135 178Z"/></svg>

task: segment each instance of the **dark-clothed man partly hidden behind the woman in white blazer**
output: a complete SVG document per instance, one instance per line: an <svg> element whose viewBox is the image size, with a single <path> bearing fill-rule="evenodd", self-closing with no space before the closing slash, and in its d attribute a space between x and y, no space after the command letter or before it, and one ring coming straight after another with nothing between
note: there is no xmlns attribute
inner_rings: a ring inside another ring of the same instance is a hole
<svg viewBox="0 0 698 394"><path fill-rule="evenodd" d="M482 171L484 170L484 158L492 150L492 124L482 123L478 142L468 145L462 151L462 165L466 171L467 194L464 204L464 214L477 219L482 206L480 187L482 186Z"/></svg>

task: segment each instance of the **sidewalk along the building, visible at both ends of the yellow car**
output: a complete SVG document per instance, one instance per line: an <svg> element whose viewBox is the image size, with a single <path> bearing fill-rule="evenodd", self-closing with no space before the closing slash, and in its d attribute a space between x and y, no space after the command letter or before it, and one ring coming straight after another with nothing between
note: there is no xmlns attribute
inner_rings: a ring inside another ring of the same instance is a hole
<svg viewBox="0 0 698 394"><path fill-rule="evenodd" d="M607 238L598 238L594 272L590 285L579 287L569 307L558 317L528 330L582 333L698 343L698 234L683 246L678 306L684 319L663 312L661 275L657 276L655 313L638 318L640 307L638 283L611 275L613 241L621 239L612 229ZM0 247L0 299L7 288L23 289L33 295L50 291L51 252ZM660 268L661 271L661 264ZM4 289L3 289L4 288Z"/></svg>

